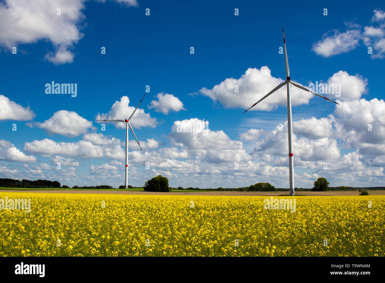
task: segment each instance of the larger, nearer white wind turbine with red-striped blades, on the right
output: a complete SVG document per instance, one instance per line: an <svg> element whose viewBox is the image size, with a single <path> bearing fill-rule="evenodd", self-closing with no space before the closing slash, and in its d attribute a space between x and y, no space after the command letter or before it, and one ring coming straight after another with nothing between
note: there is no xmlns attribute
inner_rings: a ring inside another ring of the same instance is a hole
<svg viewBox="0 0 385 283"><path fill-rule="evenodd" d="M289 135L289 176L290 176L290 195L292 196L294 194L294 164L293 164L293 144L291 142L291 136L293 135L293 129L292 129L292 123L291 123L291 98L290 98L290 84L294 85L295 87L298 87L300 89L303 89L303 90L306 90L312 94L315 94L319 97L323 97L325 98L326 100L330 100L331 102L334 102L336 104L339 104L331 99L328 99L326 98L325 96L322 96L306 87L303 87L302 85L299 85L293 81L290 80L290 70L289 70L289 63L288 63L288 55L286 53L286 42L285 42L285 33L283 32L283 28L282 28L282 33L283 33L283 48L285 49L285 67L286 67L286 82L283 82L279 85L277 85L273 90L271 90L271 92L269 92L268 94L266 94L264 97L262 97L261 99L258 100L258 102L254 103L253 105L251 105L251 107L254 107L255 105L257 105L259 102L261 102L263 99L265 99L266 97L268 97L270 94L273 94L273 92L275 92L276 90L280 89L281 87L283 87L285 84L287 85L287 97L288 97L288 135ZM251 108L250 107L250 108ZM249 108L249 109L250 109ZM247 110L249 110L247 109ZM246 111L247 111L246 110ZM244 111L244 112L246 112ZM244 113L243 112L243 113Z"/></svg>

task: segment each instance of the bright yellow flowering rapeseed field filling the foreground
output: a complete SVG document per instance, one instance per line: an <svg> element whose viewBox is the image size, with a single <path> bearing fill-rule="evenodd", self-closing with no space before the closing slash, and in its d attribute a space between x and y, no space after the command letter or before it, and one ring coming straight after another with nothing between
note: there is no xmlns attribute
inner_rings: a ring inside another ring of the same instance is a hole
<svg viewBox="0 0 385 283"><path fill-rule="evenodd" d="M55 192L0 192L30 199L29 213L0 209L0 256L385 255L385 196L266 209L265 196Z"/></svg>

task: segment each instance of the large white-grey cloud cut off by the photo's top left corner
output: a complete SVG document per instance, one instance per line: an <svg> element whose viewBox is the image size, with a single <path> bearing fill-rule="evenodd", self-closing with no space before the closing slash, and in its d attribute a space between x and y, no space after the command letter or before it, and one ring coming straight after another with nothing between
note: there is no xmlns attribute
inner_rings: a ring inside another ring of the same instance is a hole
<svg viewBox="0 0 385 283"><path fill-rule="evenodd" d="M99 0L99 2L105 2ZM136 0L116 0L126 6L137 6ZM0 2L0 44L12 49L18 44L47 40L54 52L45 59L54 64L71 63L75 54L70 50L84 36L85 0L4 0ZM61 15L58 15L60 9Z"/></svg>

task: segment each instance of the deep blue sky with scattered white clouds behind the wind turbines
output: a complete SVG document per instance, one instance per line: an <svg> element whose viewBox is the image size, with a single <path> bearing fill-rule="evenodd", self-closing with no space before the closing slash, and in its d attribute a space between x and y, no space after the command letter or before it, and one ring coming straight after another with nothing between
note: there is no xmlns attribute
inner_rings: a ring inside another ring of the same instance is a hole
<svg viewBox="0 0 385 283"><path fill-rule="evenodd" d="M144 146L130 146L129 184L162 174L174 187L287 188L285 87L243 114L286 77L284 27L291 79L341 85L340 97L325 94L340 100L337 107L292 87L295 186L311 188L318 177L331 186L383 186L382 2L57 0L36 1L32 14L16 0L2 3L2 178L124 184L124 128L101 131L95 119L127 119L149 85L139 107L145 114L132 118ZM77 96L46 94L51 81L76 83ZM176 132L176 121L203 120L207 136ZM69 165L58 170L63 158Z"/></svg>

